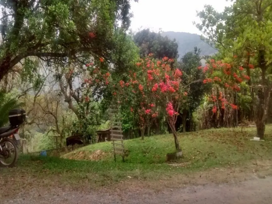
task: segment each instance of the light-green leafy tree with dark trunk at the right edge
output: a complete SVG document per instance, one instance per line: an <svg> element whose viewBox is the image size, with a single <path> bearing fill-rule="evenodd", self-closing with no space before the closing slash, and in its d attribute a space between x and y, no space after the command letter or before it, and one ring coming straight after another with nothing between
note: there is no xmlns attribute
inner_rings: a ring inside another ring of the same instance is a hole
<svg viewBox="0 0 272 204"><path fill-rule="evenodd" d="M272 91L271 9L269 0L237 0L223 13L217 13L209 5L198 12L202 23L196 24L208 43L219 50L221 59L232 59L247 71L250 95L257 109L257 136L262 139Z"/></svg>

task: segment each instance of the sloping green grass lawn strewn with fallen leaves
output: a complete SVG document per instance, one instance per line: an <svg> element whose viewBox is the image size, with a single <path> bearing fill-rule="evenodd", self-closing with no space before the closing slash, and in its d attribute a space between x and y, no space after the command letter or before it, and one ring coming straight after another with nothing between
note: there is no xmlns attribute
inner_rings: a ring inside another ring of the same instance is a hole
<svg viewBox="0 0 272 204"><path fill-rule="evenodd" d="M124 141L125 163L120 156L115 163L110 153L112 144L102 142L67 153L63 158L24 155L19 158L17 168L0 171L1 177L57 178L67 184L91 181L93 186L128 179L169 179L205 169L271 160L272 126L266 127L265 142L250 141L255 134L256 128L246 128L243 132L240 128L222 128L179 134L184 157L171 165L165 162L165 155L174 151L174 140L173 135L166 134L146 137L144 141L140 138Z"/></svg>

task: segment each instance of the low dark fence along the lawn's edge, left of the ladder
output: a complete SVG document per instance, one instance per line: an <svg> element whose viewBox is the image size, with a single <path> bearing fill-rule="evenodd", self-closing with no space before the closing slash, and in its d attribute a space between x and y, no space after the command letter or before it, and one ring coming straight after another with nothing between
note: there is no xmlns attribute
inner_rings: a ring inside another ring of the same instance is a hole
<svg viewBox="0 0 272 204"><path fill-rule="evenodd" d="M60 156L61 154L65 154L68 152L72 152L78 148L82 148L84 145L73 145L70 147L62 147L57 149L47 149L43 151L37 151L37 152L29 152L27 154L33 155L33 156Z"/></svg>

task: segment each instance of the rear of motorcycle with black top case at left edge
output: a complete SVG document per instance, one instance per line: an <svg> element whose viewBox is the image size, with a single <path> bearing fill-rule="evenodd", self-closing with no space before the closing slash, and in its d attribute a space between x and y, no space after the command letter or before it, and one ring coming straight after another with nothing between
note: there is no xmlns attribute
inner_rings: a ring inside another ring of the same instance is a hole
<svg viewBox="0 0 272 204"><path fill-rule="evenodd" d="M14 167L17 164L20 145L18 131L26 118L24 109L10 110L8 115L10 125L0 128L1 167Z"/></svg>

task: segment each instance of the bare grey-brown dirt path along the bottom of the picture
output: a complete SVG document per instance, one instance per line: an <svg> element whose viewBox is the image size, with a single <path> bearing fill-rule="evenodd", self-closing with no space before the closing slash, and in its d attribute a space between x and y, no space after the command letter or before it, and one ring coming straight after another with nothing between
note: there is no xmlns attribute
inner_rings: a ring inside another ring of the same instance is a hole
<svg viewBox="0 0 272 204"><path fill-rule="evenodd" d="M256 178L232 184L207 184L180 189L165 189L154 192L142 189L138 192L119 192L117 194L61 189L44 190L33 188L26 194L17 194L13 199L2 203L16 204L270 204L272 201L272 177Z"/></svg>

